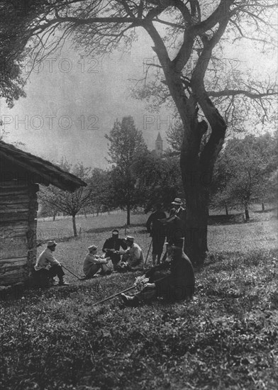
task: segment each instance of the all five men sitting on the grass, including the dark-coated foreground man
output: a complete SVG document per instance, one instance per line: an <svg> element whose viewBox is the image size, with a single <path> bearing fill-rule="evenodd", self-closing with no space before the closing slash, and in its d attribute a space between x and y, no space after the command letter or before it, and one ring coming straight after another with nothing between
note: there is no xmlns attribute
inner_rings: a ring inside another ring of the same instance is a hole
<svg viewBox="0 0 278 390"><path fill-rule="evenodd" d="M182 248L183 240L179 241L177 240L177 243L174 244L167 243L165 262L152 267L145 273L145 277L148 277L149 280L142 291L133 296L121 294L121 299L126 306L138 306L140 303L147 303L157 298L166 301L181 301L191 298L195 285L194 270ZM65 274L62 266L52 254L56 245L55 241L48 242L47 248L38 257L35 270L37 272L47 271L52 278L57 275L59 285L65 286L67 283L64 279ZM112 237L104 243L103 251L104 257L98 256L96 255L96 245L89 246L89 253L84 260L86 277L93 277L98 271L102 274L110 273L111 269L107 265L110 260L115 270L143 269L144 256L139 245L134 243L133 237L118 238L118 230L113 230Z"/></svg>

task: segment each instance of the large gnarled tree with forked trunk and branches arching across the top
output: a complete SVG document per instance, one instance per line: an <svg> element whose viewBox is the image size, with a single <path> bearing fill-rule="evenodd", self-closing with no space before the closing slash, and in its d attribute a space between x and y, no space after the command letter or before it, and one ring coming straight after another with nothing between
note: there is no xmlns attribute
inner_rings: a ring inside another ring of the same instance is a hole
<svg viewBox="0 0 278 390"><path fill-rule="evenodd" d="M1 6L9 3L2 1ZM11 26L5 26L7 34L13 33L9 45L14 49L14 64L20 63L26 48L34 48L35 58L43 59L67 37L84 54L103 55L119 45L128 48L137 28L150 35L157 55L152 65L162 77L145 84L141 96L169 99L182 123L186 251L194 264L203 264L208 250L207 178L213 174L230 118L236 118L236 111L248 114L245 108L252 101L252 111L266 121L270 98L277 94L271 78L264 82L233 67L227 70L224 49L238 40L252 40L262 50L275 45L271 23L276 0L36 0L24 4L30 5L26 15L18 16L18 23L13 17Z"/></svg>

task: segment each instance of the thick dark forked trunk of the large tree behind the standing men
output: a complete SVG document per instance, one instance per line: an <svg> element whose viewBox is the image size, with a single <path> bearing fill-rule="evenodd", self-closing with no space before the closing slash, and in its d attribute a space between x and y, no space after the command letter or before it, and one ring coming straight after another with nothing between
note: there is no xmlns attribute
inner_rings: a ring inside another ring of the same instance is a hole
<svg viewBox="0 0 278 390"><path fill-rule="evenodd" d="M213 167L223 145L226 126L216 125L200 153L204 123L195 121L187 130L181 154L182 182L187 204L184 251L194 267L201 267L208 252L209 190Z"/></svg>

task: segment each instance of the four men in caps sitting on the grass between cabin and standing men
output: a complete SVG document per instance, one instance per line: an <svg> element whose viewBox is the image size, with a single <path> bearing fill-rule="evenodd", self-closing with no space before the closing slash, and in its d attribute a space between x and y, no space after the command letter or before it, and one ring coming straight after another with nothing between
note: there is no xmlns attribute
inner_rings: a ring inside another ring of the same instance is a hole
<svg viewBox="0 0 278 390"><path fill-rule="evenodd" d="M53 278L57 276L59 285L67 286L68 283L65 282L65 272L62 265L53 256L56 246L55 241L48 241L46 249L38 257L34 268L37 272L43 272L50 279L50 284L54 284ZM97 272L108 275L113 270L118 272L143 270L145 261L143 250L138 244L134 243L134 238L131 236L126 239L119 238L117 229L114 229L112 237L105 241L102 249L104 255L96 254L96 245L90 245L88 250L89 253L83 264L83 272L88 279L94 277Z"/></svg>

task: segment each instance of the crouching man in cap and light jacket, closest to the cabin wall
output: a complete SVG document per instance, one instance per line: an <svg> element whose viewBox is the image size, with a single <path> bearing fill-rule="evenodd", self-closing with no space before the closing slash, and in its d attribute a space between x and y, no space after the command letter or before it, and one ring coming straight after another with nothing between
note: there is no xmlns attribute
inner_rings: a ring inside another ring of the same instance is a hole
<svg viewBox="0 0 278 390"><path fill-rule="evenodd" d="M57 276L59 278L59 286L68 286L69 284L65 282L65 272L62 270L60 262L52 255L52 252L55 252L56 245L55 241L48 241L46 249L40 253L34 268L35 271L41 271L42 269L48 271L48 277L51 279Z"/></svg>

